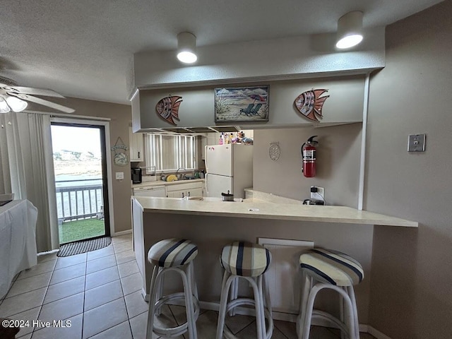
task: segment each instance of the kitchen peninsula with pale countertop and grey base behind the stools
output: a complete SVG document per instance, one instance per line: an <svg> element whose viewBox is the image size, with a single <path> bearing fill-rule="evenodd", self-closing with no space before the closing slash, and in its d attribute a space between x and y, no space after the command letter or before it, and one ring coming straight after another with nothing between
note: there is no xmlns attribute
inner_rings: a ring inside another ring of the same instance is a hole
<svg viewBox="0 0 452 339"><path fill-rule="evenodd" d="M222 246L236 239L309 240L316 246L344 251L362 263L367 279L357 286L356 294L359 319L365 323L371 270L369 243L374 225L417 227L417 222L345 206L303 206L264 199L265 196L259 196L243 202L223 202L133 197L133 243L143 275L143 295L148 294L152 269L146 260L147 251L161 239L182 237L198 245L194 265L196 281L201 306L210 309L215 309L220 300L222 270L218 258ZM296 258L291 267L296 275ZM165 280L165 285L175 288L177 285L171 280ZM289 292L297 299L298 290L281 291Z"/></svg>

